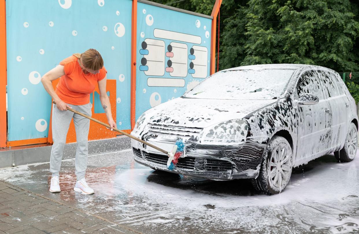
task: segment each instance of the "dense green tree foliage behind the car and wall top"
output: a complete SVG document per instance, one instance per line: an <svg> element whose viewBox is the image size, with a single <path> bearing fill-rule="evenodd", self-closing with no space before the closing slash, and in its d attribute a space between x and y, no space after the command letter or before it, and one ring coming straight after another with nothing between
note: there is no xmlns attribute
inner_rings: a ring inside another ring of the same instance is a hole
<svg viewBox="0 0 359 234"><path fill-rule="evenodd" d="M207 15L215 3L154 1ZM274 63L359 70L359 1L223 0L219 26L220 70Z"/></svg>

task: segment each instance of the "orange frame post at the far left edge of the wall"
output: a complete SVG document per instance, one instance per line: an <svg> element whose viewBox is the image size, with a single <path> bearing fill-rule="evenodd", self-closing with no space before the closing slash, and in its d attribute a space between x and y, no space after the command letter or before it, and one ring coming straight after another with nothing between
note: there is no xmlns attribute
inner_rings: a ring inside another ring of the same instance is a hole
<svg viewBox="0 0 359 234"><path fill-rule="evenodd" d="M0 3L0 147L6 147L6 139L8 136L6 130L6 3L1 1Z"/></svg>

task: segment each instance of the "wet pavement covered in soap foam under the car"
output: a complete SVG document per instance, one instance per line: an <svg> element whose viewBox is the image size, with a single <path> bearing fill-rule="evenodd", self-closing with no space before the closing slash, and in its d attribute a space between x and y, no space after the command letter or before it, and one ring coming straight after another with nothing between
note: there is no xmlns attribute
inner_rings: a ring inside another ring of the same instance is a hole
<svg viewBox="0 0 359 234"><path fill-rule="evenodd" d="M326 155L295 168L290 185L269 196L247 179L157 172L124 150L89 156L94 195L73 190L74 159L62 161L60 193L48 191L48 163L0 169L0 179L140 233L359 233L358 169L358 154L350 163Z"/></svg>

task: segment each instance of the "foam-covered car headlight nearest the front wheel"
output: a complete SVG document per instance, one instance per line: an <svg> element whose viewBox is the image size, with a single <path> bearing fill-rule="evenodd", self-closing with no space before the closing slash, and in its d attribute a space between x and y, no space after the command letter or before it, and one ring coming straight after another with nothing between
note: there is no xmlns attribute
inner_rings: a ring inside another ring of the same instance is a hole
<svg viewBox="0 0 359 234"><path fill-rule="evenodd" d="M229 120L205 128L202 133L202 141L207 144L236 144L245 141L247 133L247 121Z"/></svg>

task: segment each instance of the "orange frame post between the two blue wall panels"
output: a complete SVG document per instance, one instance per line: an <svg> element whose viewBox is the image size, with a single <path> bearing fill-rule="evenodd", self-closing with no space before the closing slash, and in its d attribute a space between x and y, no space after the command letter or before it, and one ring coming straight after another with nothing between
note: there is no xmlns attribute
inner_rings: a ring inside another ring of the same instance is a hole
<svg viewBox="0 0 359 234"><path fill-rule="evenodd" d="M132 0L131 42L131 130L136 124L136 47L137 47L137 0Z"/></svg>

